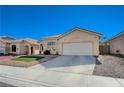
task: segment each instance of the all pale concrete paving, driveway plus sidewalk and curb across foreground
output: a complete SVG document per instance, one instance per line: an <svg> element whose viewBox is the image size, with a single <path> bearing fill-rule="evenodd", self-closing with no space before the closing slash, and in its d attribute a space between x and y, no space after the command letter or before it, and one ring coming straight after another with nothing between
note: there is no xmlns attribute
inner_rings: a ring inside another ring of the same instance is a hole
<svg viewBox="0 0 124 93"><path fill-rule="evenodd" d="M0 65L0 82L20 87L124 86L124 79L91 75L95 60L93 56L59 56L30 68Z"/></svg>

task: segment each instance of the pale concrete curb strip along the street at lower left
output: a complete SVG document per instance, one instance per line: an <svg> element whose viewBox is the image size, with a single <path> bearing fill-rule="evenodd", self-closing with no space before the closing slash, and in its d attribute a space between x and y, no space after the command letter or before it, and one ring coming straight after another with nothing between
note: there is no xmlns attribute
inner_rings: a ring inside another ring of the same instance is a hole
<svg viewBox="0 0 124 93"><path fill-rule="evenodd" d="M13 78L12 76L0 75L0 81L8 83L17 87L57 87L58 85L48 84L45 82L38 82L20 78Z"/></svg>

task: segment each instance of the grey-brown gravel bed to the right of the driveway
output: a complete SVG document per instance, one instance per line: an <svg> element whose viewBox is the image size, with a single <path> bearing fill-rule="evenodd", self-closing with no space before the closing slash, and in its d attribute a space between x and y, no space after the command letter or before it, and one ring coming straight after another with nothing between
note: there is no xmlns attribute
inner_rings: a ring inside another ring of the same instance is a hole
<svg viewBox="0 0 124 93"><path fill-rule="evenodd" d="M124 58L112 55L100 55L93 74L114 78L124 78Z"/></svg>

